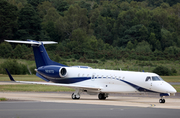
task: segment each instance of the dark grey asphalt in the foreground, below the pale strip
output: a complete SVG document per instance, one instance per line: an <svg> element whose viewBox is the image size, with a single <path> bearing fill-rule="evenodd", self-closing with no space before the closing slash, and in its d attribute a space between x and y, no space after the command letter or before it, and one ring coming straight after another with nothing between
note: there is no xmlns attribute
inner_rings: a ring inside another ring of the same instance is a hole
<svg viewBox="0 0 180 118"><path fill-rule="evenodd" d="M179 118L179 109L35 101L0 102L0 118Z"/></svg>

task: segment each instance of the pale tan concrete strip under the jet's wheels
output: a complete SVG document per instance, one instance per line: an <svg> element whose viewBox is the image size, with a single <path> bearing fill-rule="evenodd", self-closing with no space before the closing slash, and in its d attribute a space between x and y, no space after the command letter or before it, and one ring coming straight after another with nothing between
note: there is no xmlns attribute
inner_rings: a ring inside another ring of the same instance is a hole
<svg viewBox="0 0 180 118"><path fill-rule="evenodd" d="M153 107L180 109L180 95L166 97L166 103L159 103L158 94L110 94L106 100L99 100L97 95L81 94L79 100L72 100L70 92L0 92L0 97L11 101L39 101L55 103L94 104L112 106Z"/></svg>

